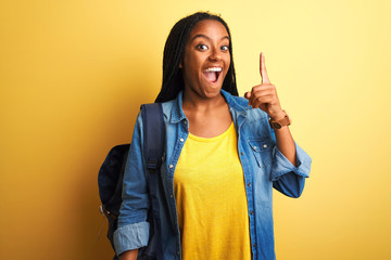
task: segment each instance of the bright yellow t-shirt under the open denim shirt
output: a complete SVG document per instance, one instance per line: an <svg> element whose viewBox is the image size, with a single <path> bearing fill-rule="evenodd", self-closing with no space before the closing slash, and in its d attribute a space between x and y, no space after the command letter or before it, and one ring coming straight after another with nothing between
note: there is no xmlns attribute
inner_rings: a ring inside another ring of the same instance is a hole
<svg viewBox="0 0 391 260"><path fill-rule="evenodd" d="M234 123L189 133L174 174L182 259L251 259L244 178Z"/></svg>

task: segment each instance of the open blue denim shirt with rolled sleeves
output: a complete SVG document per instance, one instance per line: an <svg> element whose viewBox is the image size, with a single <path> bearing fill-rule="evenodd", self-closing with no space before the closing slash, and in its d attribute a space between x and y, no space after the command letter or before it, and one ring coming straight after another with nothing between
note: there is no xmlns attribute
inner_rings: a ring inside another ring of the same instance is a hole
<svg viewBox="0 0 391 260"><path fill-rule="evenodd" d="M290 197L299 197L311 168L310 156L295 143L297 167L277 148L274 130L265 112L249 106L248 100L222 90L238 134L238 154L243 169L252 259L275 259L273 227L273 187ZM161 167L162 185L157 188L162 222L164 259L180 259L180 233L174 196L174 173L189 134L189 121L182 110L182 92L163 103L166 146ZM148 174L143 160L142 120L137 118L124 176L123 204L118 229L114 233L116 252L147 246L150 207Z"/></svg>

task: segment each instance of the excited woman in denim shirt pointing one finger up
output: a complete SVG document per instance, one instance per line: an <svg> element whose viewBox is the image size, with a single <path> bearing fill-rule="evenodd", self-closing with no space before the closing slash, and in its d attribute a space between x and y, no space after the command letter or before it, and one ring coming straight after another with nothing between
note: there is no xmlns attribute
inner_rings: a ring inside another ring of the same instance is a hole
<svg viewBox="0 0 391 260"><path fill-rule="evenodd" d="M180 20L163 57L165 157L159 192L165 259L275 259L272 190L299 197L311 158L267 77L238 98L227 24L209 13ZM270 123L269 123L270 119ZM136 259L149 239L142 122L124 178L116 251Z"/></svg>

